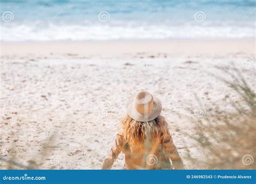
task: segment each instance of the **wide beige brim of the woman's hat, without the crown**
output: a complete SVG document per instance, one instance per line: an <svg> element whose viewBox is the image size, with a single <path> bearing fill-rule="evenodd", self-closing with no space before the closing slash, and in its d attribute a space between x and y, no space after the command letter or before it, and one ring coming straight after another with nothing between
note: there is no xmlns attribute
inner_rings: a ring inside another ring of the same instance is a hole
<svg viewBox="0 0 256 184"><path fill-rule="evenodd" d="M161 101L153 96L153 108L151 110L151 112L147 113L147 114L141 114L139 113L135 106L134 106L134 96L130 97L128 100L127 100L127 103L126 103L126 109L127 109L127 114L134 120L136 120L137 122L149 122L153 119L156 119L160 113L161 113L161 110L162 110L162 104L161 104Z"/></svg>

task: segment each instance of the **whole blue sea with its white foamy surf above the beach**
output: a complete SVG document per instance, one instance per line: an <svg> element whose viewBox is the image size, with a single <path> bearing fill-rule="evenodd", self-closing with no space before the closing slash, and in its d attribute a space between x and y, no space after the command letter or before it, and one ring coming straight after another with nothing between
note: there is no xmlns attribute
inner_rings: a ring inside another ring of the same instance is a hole
<svg viewBox="0 0 256 184"><path fill-rule="evenodd" d="M255 1L0 1L1 41L255 38Z"/></svg>

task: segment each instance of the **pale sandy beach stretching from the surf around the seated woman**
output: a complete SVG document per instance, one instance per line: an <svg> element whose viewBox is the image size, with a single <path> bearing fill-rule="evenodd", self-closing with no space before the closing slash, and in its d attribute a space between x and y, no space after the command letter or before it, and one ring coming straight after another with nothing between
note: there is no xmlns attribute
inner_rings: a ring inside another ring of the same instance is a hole
<svg viewBox="0 0 256 184"><path fill-rule="evenodd" d="M254 40L246 39L2 43L1 156L24 165L35 160L40 169L100 169L127 98L147 90L163 103L186 168L197 168L188 151L201 160L207 155L184 134L196 130L188 119L200 118L197 109L208 117L234 111L227 96L241 102L210 73L226 77L214 66L235 65L255 89L254 51ZM120 154L113 169L123 168Z"/></svg>

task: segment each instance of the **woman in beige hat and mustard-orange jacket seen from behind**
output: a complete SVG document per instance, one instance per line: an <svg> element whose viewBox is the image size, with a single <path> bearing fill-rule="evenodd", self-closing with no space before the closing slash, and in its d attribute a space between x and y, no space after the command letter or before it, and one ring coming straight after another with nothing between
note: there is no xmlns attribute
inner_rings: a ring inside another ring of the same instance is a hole
<svg viewBox="0 0 256 184"><path fill-rule="evenodd" d="M140 91L127 101L126 109L122 133L117 134L102 168L111 169L122 151L126 169L184 169L165 118L160 116L160 100L147 91Z"/></svg>

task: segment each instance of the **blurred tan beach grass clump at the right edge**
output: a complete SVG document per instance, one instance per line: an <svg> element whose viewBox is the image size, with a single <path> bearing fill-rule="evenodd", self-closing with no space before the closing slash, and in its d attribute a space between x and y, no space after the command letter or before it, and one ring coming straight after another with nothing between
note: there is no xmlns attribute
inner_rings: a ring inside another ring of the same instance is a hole
<svg viewBox="0 0 256 184"><path fill-rule="evenodd" d="M255 169L255 91L237 68L217 67L217 69L227 74L231 80L215 74L211 75L236 91L242 103L231 101L237 113L217 113L200 120L190 119L197 125L197 136L190 136L187 133L186 135L200 145L205 152L206 159L196 159L190 154L187 158L198 168Z"/></svg>

